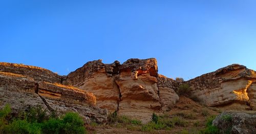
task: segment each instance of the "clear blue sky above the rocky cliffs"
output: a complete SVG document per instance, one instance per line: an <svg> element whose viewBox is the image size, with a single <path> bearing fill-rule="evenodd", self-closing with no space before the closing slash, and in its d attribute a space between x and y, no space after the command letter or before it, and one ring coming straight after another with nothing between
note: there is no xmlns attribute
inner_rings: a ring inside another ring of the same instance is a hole
<svg viewBox="0 0 256 134"><path fill-rule="evenodd" d="M84 63L158 60L185 80L256 70L256 1L0 1L0 61L67 75Z"/></svg>

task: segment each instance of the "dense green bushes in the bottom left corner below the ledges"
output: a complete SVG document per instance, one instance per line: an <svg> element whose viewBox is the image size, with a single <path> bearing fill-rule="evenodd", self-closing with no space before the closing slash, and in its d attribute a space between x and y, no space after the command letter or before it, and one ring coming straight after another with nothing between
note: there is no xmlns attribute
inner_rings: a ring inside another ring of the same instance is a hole
<svg viewBox="0 0 256 134"><path fill-rule="evenodd" d="M10 105L0 110L0 133L86 133L82 118L66 113L60 118L47 115L41 106L31 107L18 117L11 117Z"/></svg>

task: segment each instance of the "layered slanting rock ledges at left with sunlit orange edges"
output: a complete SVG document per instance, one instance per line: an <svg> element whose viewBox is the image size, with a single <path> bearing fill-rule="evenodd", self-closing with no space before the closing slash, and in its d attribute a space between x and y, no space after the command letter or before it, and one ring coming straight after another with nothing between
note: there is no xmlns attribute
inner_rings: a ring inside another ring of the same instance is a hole
<svg viewBox="0 0 256 134"><path fill-rule="evenodd" d="M92 93L55 83L60 82L61 77L49 70L22 64L0 64L0 108L9 103L13 114L17 114L41 105L49 112L76 111L85 119L90 117L97 122L106 122L106 110L95 107L96 97Z"/></svg>

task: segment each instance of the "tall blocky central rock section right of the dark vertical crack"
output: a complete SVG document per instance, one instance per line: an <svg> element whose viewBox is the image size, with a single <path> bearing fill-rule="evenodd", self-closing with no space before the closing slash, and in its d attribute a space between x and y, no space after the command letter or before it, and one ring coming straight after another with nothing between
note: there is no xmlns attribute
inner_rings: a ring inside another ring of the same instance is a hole
<svg viewBox="0 0 256 134"><path fill-rule="evenodd" d="M149 120L153 112L161 109L156 59L129 59L119 69L116 78L121 93L119 113Z"/></svg>

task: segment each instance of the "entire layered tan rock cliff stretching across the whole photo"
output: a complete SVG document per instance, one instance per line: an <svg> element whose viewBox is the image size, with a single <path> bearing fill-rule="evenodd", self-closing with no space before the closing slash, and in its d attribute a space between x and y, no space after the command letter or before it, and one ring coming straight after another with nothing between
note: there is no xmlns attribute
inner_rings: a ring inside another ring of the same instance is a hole
<svg viewBox="0 0 256 134"><path fill-rule="evenodd" d="M232 64L195 79L177 81L158 74L155 58L129 59L123 64L90 61L68 76L0 62L0 108L9 103L15 114L41 105L59 114L77 111L84 119L97 122L106 122L108 113L118 111L148 121L152 113L175 105L181 83L189 84L192 95L207 106L255 110L255 71Z"/></svg>

